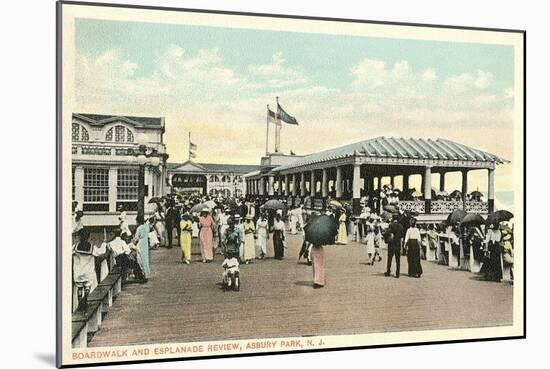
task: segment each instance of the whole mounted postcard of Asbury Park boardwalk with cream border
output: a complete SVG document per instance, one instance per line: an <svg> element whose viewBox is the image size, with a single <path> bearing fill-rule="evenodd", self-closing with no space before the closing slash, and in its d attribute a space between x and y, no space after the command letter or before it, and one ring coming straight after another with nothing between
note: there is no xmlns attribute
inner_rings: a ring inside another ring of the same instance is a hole
<svg viewBox="0 0 550 369"><path fill-rule="evenodd" d="M58 365L525 336L524 36L58 4Z"/></svg>

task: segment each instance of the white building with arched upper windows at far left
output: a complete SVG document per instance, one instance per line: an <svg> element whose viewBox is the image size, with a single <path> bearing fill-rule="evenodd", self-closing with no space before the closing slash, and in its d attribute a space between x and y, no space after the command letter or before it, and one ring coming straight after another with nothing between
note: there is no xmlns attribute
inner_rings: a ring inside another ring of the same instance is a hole
<svg viewBox="0 0 550 369"><path fill-rule="evenodd" d="M135 216L140 144L158 158L145 164L145 203L165 193L164 127L162 117L73 114L72 200L86 225L115 225L120 210Z"/></svg>

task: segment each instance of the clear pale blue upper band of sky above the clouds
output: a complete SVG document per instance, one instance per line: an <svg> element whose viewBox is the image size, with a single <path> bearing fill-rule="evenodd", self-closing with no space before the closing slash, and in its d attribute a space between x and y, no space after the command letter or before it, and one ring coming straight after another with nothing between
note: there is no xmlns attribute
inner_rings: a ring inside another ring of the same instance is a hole
<svg viewBox="0 0 550 369"><path fill-rule="evenodd" d="M289 65L326 87L351 82L350 68L365 58L388 63L405 59L415 70L436 68L441 79L479 69L493 74L495 91L513 87L510 46L93 19L77 19L76 30L79 53L97 56L119 50L139 63L136 77L152 73L155 59L170 45L179 45L192 55L218 48L224 64L243 74L248 65L269 63L274 52L282 51Z"/></svg>

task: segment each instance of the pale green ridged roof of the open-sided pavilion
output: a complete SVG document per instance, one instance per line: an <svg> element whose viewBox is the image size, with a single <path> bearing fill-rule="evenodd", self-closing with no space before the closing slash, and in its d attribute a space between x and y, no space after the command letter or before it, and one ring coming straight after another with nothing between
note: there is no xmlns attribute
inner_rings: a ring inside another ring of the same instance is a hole
<svg viewBox="0 0 550 369"><path fill-rule="evenodd" d="M497 155L446 139L377 137L307 155L293 163L273 169L274 172L361 156L385 159L427 159L431 161L466 161L503 164L509 162Z"/></svg>

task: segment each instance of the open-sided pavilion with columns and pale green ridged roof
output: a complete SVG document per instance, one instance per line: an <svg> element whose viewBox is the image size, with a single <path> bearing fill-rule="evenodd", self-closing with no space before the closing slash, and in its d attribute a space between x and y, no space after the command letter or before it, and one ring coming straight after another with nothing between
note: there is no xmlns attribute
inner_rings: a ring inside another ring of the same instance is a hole
<svg viewBox="0 0 550 369"><path fill-rule="evenodd" d="M350 200L354 213L360 210L363 193L380 187L382 177L402 176L403 191L409 189L411 175L422 176L424 201L403 202L400 206L419 213L448 213L460 206L475 212L494 209L494 174L500 164L509 161L483 150L446 139L377 137L340 146L303 157L246 176L251 197L287 198L292 204L311 199L311 207L320 208L329 198ZM488 201L468 204L468 172L487 171ZM440 191L445 189L445 174L462 174L462 204L432 201L432 173L440 174ZM330 187L329 187L330 186ZM330 191L333 188L333 191ZM471 207L475 207L471 208Z"/></svg>

